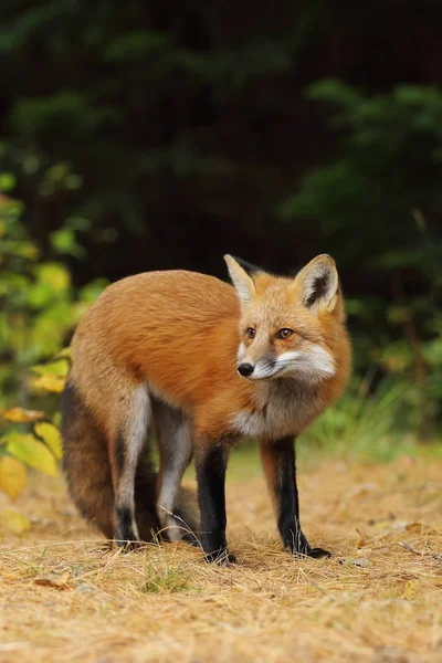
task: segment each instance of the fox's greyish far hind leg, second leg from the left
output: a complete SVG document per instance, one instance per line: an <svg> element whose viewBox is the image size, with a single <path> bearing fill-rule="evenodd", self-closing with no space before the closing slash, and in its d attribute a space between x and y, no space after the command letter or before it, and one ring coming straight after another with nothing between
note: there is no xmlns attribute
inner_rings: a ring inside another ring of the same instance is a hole
<svg viewBox="0 0 442 663"><path fill-rule="evenodd" d="M182 475L192 459L192 428L186 415L160 401L154 404L160 455L157 513L165 534L171 541L196 537L182 520L178 494Z"/></svg>

